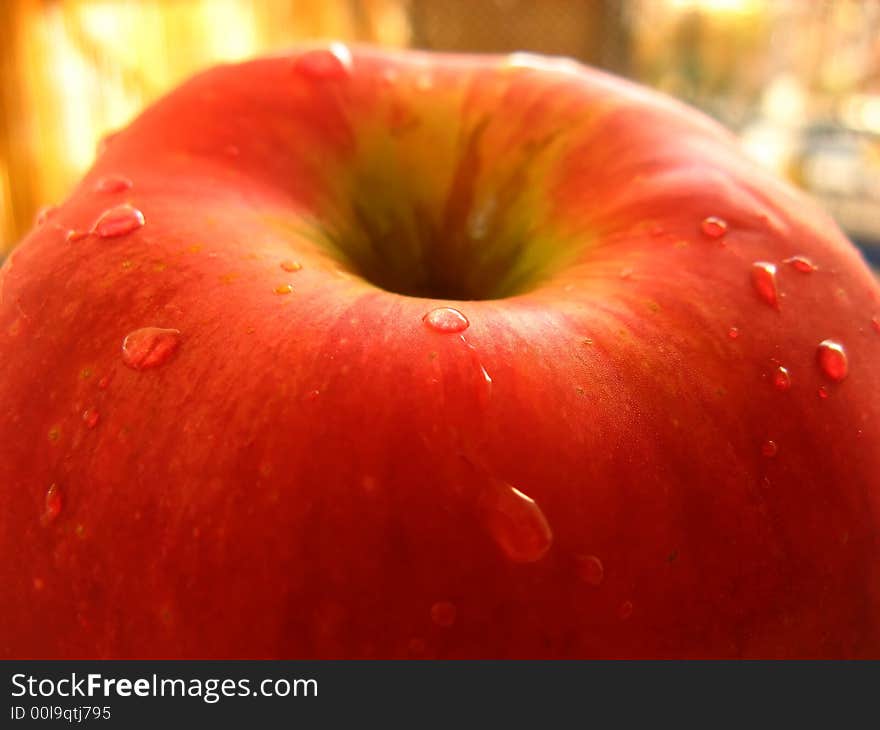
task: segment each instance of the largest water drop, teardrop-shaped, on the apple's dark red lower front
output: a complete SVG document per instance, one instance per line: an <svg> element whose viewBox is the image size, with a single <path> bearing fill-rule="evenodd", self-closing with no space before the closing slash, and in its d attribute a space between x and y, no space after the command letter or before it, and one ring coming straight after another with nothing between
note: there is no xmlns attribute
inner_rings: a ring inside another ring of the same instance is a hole
<svg viewBox="0 0 880 730"><path fill-rule="evenodd" d="M483 494L486 524L501 551L515 563L547 554L553 533L538 504L515 487L492 480Z"/></svg>

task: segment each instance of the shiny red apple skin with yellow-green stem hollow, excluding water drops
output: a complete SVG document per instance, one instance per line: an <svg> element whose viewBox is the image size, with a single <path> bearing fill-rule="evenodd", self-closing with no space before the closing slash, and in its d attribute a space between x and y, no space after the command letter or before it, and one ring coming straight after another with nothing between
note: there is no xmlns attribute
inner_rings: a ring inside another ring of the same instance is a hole
<svg viewBox="0 0 880 730"><path fill-rule="evenodd" d="M880 658L880 289L835 224L597 71L350 53L189 81L4 264L0 655Z"/></svg>

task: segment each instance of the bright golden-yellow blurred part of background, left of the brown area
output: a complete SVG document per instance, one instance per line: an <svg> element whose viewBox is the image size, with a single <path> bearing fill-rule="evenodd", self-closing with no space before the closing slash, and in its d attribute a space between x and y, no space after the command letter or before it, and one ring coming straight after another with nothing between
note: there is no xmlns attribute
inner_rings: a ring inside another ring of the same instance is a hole
<svg viewBox="0 0 880 730"><path fill-rule="evenodd" d="M403 46L408 0L0 0L0 254L100 139L198 70L297 42Z"/></svg>

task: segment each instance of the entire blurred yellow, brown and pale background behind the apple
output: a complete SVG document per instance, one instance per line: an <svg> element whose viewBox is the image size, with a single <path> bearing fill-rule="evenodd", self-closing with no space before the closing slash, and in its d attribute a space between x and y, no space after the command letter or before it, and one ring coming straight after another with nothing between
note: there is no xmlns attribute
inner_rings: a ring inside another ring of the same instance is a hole
<svg viewBox="0 0 880 730"><path fill-rule="evenodd" d="M329 38L563 54L662 89L880 264L880 0L0 0L0 257L194 71Z"/></svg>

